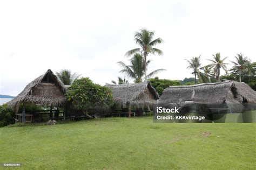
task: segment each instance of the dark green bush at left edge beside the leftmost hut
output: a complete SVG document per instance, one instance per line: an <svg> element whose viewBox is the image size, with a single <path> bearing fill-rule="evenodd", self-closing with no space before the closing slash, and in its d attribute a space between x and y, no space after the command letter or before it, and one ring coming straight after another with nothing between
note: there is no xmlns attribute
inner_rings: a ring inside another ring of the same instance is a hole
<svg viewBox="0 0 256 170"><path fill-rule="evenodd" d="M14 111L7 104L0 105L0 127L15 123Z"/></svg>

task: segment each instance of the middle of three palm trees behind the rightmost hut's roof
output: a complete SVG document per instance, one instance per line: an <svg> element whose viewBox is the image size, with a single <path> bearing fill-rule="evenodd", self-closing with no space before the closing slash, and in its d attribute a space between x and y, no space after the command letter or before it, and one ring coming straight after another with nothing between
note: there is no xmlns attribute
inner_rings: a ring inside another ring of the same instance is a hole
<svg viewBox="0 0 256 170"><path fill-rule="evenodd" d="M227 66L228 63L225 63L224 60L227 59L227 57L225 57L224 59L220 59L220 53L216 53L215 55L213 54L213 60L208 60L208 61L212 61L212 63L210 63L210 67L213 68L213 73L216 77L216 80L218 82L220 82L220 69L223 68L225 70L225 72L227 73Z"/></svg>

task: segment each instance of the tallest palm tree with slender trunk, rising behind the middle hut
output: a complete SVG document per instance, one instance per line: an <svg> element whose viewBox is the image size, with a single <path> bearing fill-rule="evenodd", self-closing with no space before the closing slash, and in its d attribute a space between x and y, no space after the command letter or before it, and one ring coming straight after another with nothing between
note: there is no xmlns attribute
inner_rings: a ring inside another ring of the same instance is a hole
<svg viewBox="0 0 256 170"><path fill-rule="evenodd" d="M143 70L144 74L146 76L146 62L147 62L147 55L149 54L155 54L162 55L163 52L158 49L154 48L155 45L161 44L163 42L163 39L157 38L153 39L154 32L148 31L146 29L139 30L134 35L134 40L136 41L136 44L140 46L140 48L134 48L130 51L126 52L125 56L130 56L136 53L140 53L143 56Z"/></svg>

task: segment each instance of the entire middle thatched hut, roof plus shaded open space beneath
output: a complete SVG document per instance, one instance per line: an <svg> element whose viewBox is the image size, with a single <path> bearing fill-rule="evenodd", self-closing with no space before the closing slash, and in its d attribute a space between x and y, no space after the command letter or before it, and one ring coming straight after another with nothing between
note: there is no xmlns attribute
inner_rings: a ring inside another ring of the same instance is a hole
<svg viewBox="0 0 256 170"><path fill-rule="evenodd" d="M142 116L157 103L159 95L148 81L132 84L106 84L112 90L114 107L112 114ZM144 110L143 110L144 109Z"/></svg>

